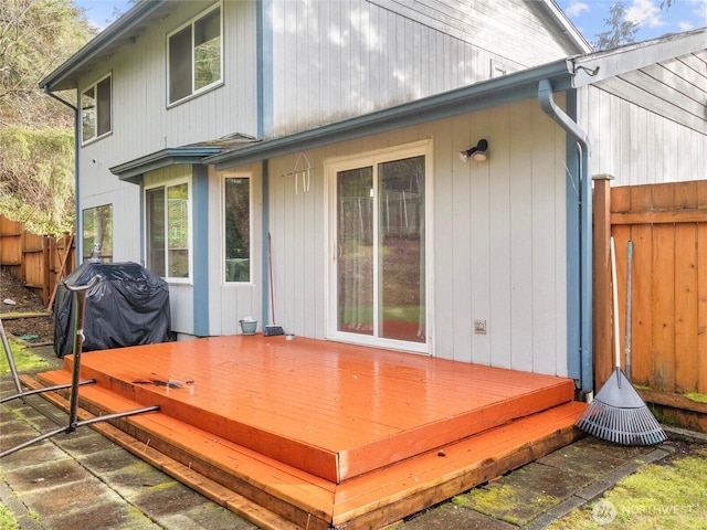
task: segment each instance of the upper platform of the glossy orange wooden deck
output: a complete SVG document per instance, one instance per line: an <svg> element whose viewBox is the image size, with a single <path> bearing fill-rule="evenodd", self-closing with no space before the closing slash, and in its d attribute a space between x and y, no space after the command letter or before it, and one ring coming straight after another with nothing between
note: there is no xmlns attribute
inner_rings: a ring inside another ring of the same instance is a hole
<svg viewBox="0 0 707 530"><path fill-rule="evenodd" d="M175 420L337 484L570 402L574 394L570 379L383 350L350 353L347 346L326 342L323 349L323 341L305 338L261 339L91 352L82 358L82 375L140 406L157 404ZM71 363L67 356L67 372Z"/></svg>

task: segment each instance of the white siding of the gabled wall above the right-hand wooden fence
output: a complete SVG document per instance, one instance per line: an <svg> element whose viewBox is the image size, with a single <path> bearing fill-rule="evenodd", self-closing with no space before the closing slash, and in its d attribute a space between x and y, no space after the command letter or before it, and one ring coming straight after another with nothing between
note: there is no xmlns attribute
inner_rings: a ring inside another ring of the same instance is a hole
<svg viewBox="0 0 707 530"><path fill-rule="evenodd" d="M600 81L578 97L593 173L613 174L614 186L707 178L707 50Z"/></svg>

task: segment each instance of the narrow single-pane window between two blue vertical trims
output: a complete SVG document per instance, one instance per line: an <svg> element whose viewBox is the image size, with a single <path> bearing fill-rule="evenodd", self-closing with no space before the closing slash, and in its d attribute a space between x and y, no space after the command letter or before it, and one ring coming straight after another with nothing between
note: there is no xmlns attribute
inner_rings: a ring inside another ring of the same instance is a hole
<svg viewBox="0 0 707 530"><path fill-rule="evenodd" d="M251 280L251 179L223 181L223 251L225 282Z"/></svg>

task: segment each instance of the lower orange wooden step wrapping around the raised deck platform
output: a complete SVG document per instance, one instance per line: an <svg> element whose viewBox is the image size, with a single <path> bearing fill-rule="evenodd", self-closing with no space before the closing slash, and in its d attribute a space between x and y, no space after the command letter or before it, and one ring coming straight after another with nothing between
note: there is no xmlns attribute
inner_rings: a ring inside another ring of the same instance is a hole
<svg viewBox="0 0 707 530"><path fill-rule="evenodd" d="M40 381L43 384L61 384L68 382L70 377L65 370L59 370L41 374ZM105 414L141 406L94 385L82 386L80 395L82 403ZM502 460L519 447L530 447L544 437L572 426L584 406L577 402L563 403L445 445L441 449L444 456L440 456L439 451L428 452L339 485L160 412L131 416L126 421L138 428L145 443L157 445L157 439L161 438L184 454L239 477L253 488L337 524L379 509L391 499L404 499L450 480L464 481L465 475L474 468L481 468L484 463ZM473 486L469 483L468 487Z"/></svg>

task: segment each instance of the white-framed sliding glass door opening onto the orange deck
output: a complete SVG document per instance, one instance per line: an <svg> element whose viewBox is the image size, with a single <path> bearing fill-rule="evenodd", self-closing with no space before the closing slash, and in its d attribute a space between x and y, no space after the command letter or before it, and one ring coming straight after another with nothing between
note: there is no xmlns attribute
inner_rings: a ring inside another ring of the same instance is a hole
<svg viewBox="0 0 707 530"><path fill-rule="evenodd" d="M335 335L425 344L425 156L356 161L334 174Z"/></svg>

